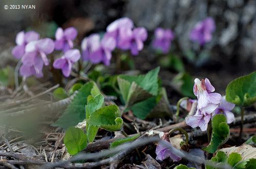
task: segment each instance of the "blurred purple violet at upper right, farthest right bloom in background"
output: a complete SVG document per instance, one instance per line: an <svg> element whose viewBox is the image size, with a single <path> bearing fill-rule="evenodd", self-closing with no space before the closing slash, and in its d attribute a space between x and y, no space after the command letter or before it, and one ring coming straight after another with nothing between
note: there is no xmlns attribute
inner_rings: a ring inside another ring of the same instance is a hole
<svg viewBox="0 0 256 169"><path fill-rule="evenodd" d="M200 42L203 46L205 42L209 42L212 38L212 32L215 31L215 22L211 17L207 17L203 21L199 21L190 32L192 41Z"/></svg>

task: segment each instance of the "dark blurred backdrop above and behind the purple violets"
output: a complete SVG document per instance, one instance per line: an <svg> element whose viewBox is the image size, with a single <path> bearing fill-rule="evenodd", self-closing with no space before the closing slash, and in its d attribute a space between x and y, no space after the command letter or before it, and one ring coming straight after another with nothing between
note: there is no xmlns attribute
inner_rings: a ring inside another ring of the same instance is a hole
<svg viewBox="0 0 256 169"><path fill-rule="evenodd" d="M4 5L35 5L36 9L5 10ZM79 46L84 37L104 32L108 24L126 16L136 27L143 26L148 31L143 50L132 57L136 69L145 73L160 65L163 85L169 85L170 80L185 70L192 79L209 78L218 92L224 94L232 79L255 70L255 7L254 0L2 0L0 68L16 66L18 60L12 57L11 49L16 34L22 30L35 30L41 37L54 39L57 27L74 26L78 30ZM209 16L215 20L216 31L212 40L201 47L189 40L189 33L198 21ZM157 27L171 29L175 34L168 55L152 48ZM170 61L172 56L182 65L174 65Z"/></svg>

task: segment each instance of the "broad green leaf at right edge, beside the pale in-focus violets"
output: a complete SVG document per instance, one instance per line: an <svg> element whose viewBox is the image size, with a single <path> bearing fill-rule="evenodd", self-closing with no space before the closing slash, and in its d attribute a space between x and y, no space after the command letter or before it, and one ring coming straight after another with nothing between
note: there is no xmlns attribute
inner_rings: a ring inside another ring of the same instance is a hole
<svg viewBox="0 0 256 169"><path fill-rule="evenodd" d="M231 81L226 88L228 102L250 106L256 102L256 71Z"/></svg>

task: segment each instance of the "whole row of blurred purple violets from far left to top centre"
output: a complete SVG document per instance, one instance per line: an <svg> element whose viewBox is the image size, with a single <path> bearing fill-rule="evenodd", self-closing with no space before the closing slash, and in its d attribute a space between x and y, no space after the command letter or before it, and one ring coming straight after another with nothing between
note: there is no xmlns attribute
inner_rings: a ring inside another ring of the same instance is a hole
<svg viewBox="0 0 256 169"><path fill-rule="evenodd" d="M47 55L56 49L62 50L64 54L54 61L53 67L61 69L62 74L68 77L73 64L80 59L80 51L73 49L73 40L76 37L77 30L74 27L68 27L66 30L59 27L55 33L55 41L50 38L39 40L39 34L34 31L19 32L16 36L17 45L13 48L12 54L17 59L22 59L20 75L42 77L42 68L44 65L49 65ZM104 65L109 66L111 52L115 48L130 49L133 55L138 55L146 39L147 31L144 27L134 28L131 19L120 18L106 27L106 33L102 39L99 34L91 34L82 40L82 60L91 61L93 64L103 62Z"/></svg>

